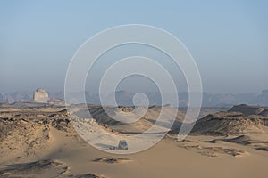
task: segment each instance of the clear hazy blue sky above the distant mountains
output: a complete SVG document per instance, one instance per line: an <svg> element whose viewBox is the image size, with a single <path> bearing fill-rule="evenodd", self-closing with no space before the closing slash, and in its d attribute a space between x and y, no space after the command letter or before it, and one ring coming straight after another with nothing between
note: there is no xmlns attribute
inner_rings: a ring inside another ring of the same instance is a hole
<svg viewBox="0 0 268 178"><path fill-rule="evenodd" d="M146 24L185 44L205 92L261 93L268 89L267 9L261 0L0 1L0 92L63 91L69 62L89 37Z"/></svg>

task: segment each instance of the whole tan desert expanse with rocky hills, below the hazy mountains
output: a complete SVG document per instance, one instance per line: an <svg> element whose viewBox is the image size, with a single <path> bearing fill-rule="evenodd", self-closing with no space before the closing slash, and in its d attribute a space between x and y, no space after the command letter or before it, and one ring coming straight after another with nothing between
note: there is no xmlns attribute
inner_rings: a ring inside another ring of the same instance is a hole
<svg viewBox="0 0 268 178"><path fill-rule="evenodd" d="M74 106L77 112L80 106ZM101 106L91 125L113 134L137 134L154 123L161 107L148 109L142 120L111 122ZM121 108L122 109L122 108ZM136 154L97 150L73 128L63 106L2 105L0 114L1 177L266 177L267 119L264 107L235 106L200 118L185 140L172 128L161 142ZM111 108L114 113L118 108ZM124 107L125 112L130 107ZM249 112L250 110L250 112ZM178 109L176 120L183 122ZM180 124L175 125L180 127ZM128 131L128 132L126 132Z"/></svg>

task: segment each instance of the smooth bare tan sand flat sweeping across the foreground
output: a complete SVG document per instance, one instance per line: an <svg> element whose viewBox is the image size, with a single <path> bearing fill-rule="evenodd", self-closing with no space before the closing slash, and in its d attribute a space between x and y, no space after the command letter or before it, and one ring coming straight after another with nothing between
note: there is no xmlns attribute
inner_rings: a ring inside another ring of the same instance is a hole
<svg viewBox="0 0 268 178"><path fill-rule="evenodd" d="M188 142L178 142L175 138L165 138L153 148L131 155L111 155L96 150L87 142L68 136L56 129L51 130L53 140L49 148L40 152L32 161L58 160L68 167L66 173L54 176L64 177L69 174L101 174L105 177L267 177L268 154L236 143L204 143L214 138L189 136ZM192 147L193 146L193 147ZM197 147L195 147L197 146ZM234 157L224 151L202 147L235 148L241 155ZM11 164L14 158L5 152L1 155L1 165ZM4 161L4 159L5 161ZM6 159L7 158L7 159ZM125 163L110 164L95 162L97 158L126 158ZM4 161L4 162L3 162ZM19 162L30 162L28 158ZM14 163L13 163L14 164ZM53 169L48 169L40 177L49 177Z"/></svg>

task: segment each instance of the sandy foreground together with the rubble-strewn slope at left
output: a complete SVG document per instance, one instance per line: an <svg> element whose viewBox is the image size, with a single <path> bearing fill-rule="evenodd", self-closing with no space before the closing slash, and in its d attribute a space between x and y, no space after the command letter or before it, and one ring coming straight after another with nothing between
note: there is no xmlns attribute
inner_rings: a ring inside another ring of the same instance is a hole
<svg viewBox="0 0 268 178"><path fill-rule="evenodd" d="M30 136L14 130L0 142L0 177L268 176L268 151L256 149L268 146L268 134L247 135L248 144L227 142L239 135L189 135L179 142L169 134L148 150L117 155L97 150L71 128L24 124Z"/></svg>

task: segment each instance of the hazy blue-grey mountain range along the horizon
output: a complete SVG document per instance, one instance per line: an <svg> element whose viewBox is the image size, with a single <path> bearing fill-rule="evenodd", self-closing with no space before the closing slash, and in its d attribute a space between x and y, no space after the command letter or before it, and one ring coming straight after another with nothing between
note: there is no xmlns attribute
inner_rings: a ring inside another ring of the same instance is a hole
<svg viewBox="0 0 268 178"><path fill-rule="evenodd" d="M51 93L47 92L50 98L58 98L64 100L64 93ZM150 105L164 105L168 103L161 103L160 93L152 92L146 93ZM132 98L135 93L129 93L127 91L117 91L115 98L118 105L131 106ZM80 103L83 102L80 98L80 93L71 93L71 102ZM96 93L85 92L86 101L91 104L100 104L99 96ZM106 99L111 98L111 95L105 96ZM171 95L172 97L172 95ZM33 92L15 92L15 93L0 93L0 103L13 103L18 101L29 101L33 98ZM268 90L264 90L261 94L256 93L203 93L203 107L226 107L229 108L238 104L250 104L259 106L268 106ZM179 106L188 106L188 93L179 93Z"/></svg>

